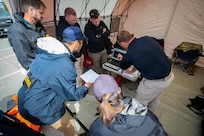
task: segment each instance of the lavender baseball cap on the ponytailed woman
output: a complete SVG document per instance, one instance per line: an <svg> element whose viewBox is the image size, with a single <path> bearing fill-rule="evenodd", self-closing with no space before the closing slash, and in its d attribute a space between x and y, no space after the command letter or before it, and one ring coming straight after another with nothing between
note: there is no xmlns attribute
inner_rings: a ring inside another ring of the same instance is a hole
<svg viewBox="0 0 204 136"><path fill-rule="evenodd" d="M118 96L119 89L120 88L115 79L107 74L101 74L96 78L93 85L94 95L98 101L102 101L102 97L105 93L113 94L108 100L114 99Z"/></svg>

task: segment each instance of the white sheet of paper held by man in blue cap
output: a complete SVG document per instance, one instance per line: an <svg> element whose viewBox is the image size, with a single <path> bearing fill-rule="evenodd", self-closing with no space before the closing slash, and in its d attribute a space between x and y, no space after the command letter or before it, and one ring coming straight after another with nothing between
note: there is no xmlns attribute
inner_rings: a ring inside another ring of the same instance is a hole
<svg viewBox="0 0 204 136"><path fill-rule="evenodd" d="M99 77L99 74L93 71L92 69L89 69L87 72L82 74L80 76L85 82L93 83L97 77Z"/></svg>

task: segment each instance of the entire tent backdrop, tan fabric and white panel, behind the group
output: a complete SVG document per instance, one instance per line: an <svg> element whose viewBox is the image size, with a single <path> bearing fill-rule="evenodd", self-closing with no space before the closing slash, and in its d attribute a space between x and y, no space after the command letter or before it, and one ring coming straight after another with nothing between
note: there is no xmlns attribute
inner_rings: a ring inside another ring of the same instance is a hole
<svg viewBox="0 0 204 136"><path fill-rule="evenodd" d="M100 12L101 19L111 29L110 38L113 42L116 36L114 32L117 33L119 30L128 30L136 37L148 35L164 39L165 53L170 59L173 50L182 42L204 46L203 0L42 1L47 6L44 25L51 36L55 36L55 25L59 16L64 15L66 7L76 10L82 29L89 18L89 11L96 8ZM10 0L10 3L12 2L14 1ZM200 57L196 65L204 68L204 57Z"/></svg>

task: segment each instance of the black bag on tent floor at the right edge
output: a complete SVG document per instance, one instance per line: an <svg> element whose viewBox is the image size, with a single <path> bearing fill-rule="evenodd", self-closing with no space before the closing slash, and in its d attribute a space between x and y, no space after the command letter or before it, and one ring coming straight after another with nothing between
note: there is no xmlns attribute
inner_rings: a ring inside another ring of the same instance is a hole
<svg viewBox="0 0 204 136"><path fill-rule="evenodd" d="M202 115L204 114L204 96L197 95L194 99L189 99L191 104L187 105L194 113Z"/></svg>

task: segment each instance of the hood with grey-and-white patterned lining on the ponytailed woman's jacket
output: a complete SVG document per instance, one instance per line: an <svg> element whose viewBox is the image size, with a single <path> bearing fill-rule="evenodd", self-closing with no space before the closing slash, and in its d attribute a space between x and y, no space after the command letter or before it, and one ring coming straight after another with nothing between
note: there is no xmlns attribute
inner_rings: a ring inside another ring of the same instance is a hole
<svg viewBox="0 0 204 136"><path fill-rule="evenodd" d="M124 110L116 115L115 122L108 126L109 129L117 133L131 133L136 127L142 126L146 120L148 108L134 98L127 97L124 100Z"/></svg>

